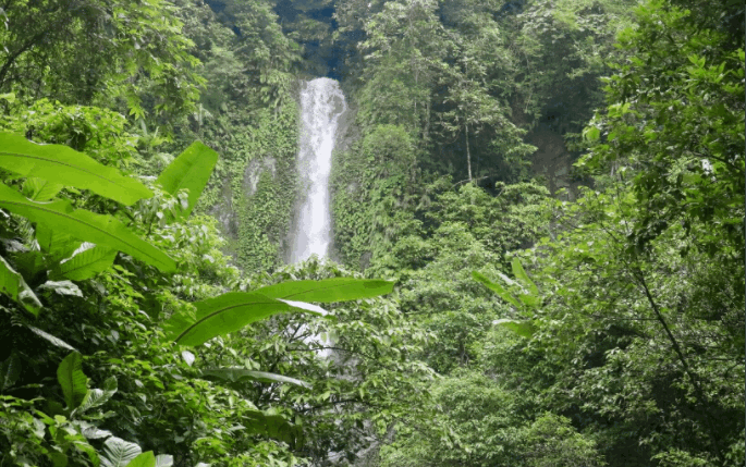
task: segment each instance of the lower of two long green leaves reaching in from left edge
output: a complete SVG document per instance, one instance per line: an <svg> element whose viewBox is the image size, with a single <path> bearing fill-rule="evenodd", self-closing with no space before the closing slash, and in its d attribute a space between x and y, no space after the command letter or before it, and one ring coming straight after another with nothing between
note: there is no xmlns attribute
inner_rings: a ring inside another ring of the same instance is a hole
<svg viewBox="0 0 746 467"><path fill-rule="evenodd" d="M143 241L111 216L95 214L82 209L73 209L68 201L34 202L24 198L12 188L0 184L0 208L23 216L32 222L45 224L75 238L108 246L142 261L152 265L163 272L176 270L176 263L168 255Z"/></svg>

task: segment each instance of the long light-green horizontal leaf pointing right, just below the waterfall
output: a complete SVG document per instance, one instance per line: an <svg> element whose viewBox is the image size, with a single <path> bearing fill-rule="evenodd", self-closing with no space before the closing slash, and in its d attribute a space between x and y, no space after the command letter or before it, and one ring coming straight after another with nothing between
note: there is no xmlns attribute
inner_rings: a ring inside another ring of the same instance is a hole
<svg viewBox="0 0 746 467"><path fill-rule="evenodd" d="M333 278L321 281L282 282L255 292L270 298L331 304L386 295L391 293L393 286L393 282L376 279Z"/></svg>

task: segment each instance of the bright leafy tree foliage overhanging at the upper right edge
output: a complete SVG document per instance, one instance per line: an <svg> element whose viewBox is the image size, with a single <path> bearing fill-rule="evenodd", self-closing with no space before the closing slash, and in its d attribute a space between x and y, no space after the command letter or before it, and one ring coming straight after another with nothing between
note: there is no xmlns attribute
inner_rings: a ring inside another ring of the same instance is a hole
<svg viewBox="0 0 746 467"><path fill-rule="evenodd" d="M585 131L598 139L583 165L594 173L624 165L640 209L632 234L638 248L683 222L718 225L698 247L729 261L744 256L743 40L726 46L700 30L689 10L663 1L636 11L639 27L620 36L631 56L606 88L604 113ZM634 56L632 54L634 53ZM724 246L723 242L726 246Z"/></svg>

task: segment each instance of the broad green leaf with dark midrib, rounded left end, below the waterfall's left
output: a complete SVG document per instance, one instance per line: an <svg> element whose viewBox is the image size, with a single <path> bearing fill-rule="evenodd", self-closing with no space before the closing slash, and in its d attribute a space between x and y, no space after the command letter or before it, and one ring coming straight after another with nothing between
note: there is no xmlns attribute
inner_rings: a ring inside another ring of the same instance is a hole
<svg viewBox="0 0 746 467"><path fill-rule="evenodd" d="M257 293L231 292L194 303L194 319L178 314L164 324L168 336L182 345L199 345L237 331L254 321L297 308Z"/></svg>

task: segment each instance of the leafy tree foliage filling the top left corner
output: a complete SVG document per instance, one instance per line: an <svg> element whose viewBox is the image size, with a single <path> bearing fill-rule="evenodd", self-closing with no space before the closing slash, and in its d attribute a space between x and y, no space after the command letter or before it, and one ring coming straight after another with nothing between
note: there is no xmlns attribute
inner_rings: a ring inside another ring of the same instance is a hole
<svg viewBox="0 0 746 467"><path fill-rule="evenodd" d="M193 110L199 62L168 3L11 0L3 17L0 90L25 102L121 99L136 116Z"/></svg>

